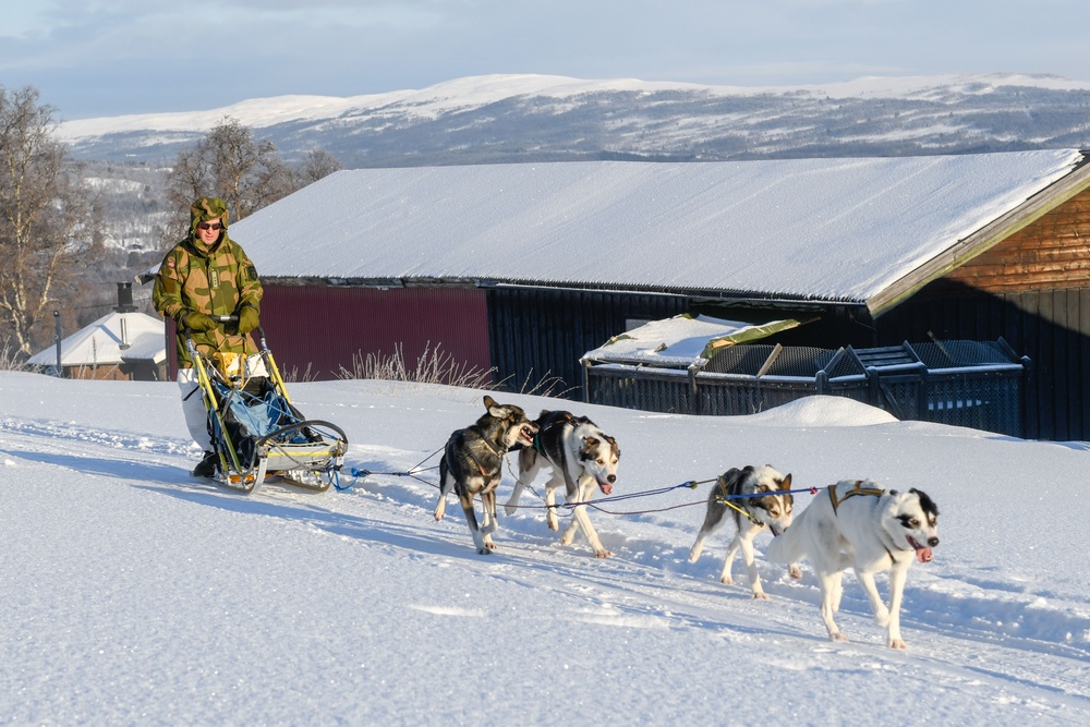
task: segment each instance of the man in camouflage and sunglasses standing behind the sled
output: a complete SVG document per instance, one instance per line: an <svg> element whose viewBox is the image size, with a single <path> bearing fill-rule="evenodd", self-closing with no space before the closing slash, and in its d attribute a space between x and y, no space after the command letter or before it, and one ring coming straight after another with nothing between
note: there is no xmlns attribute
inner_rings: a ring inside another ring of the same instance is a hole
<svg viewBox="0 0 1090 727"><path fill-rule="evenodd" d="M185 331L202 356L222 351L244 354L254 366L261 362L250 331L259 323L264 291L253 262L228 235L227 220L222 199L196 199L190 207L189 235L167 253L152 291L155 310L178 324L178 386L190 435L204 450L193 470L201 477L215 476L219 458L208 433L208 412L197 390ZM210 317L228 315L238 316L238 323L221 324ZM258 374L264 372L264 366L259 368Z"/></svg>

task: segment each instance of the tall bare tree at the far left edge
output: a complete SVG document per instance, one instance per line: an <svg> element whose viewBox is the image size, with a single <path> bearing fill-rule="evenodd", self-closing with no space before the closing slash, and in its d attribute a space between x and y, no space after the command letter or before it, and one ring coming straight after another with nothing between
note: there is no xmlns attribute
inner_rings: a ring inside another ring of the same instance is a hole
<svg viewBox="0 0 1090 727"><path fill-rule="evenodd" d="M51 308L71 292L77 264L99 246L90 202L56 131L37 89L0 86L0 330L26 355L39 324L51 324Z"/></svg>

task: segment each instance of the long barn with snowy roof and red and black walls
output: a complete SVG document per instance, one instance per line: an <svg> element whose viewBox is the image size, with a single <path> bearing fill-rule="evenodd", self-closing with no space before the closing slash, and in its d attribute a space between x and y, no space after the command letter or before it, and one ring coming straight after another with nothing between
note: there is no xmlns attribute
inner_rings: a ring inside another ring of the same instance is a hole
<svg viewBox="0 0 1090 727"><path fill-rule="evenodd" d="M441 347L581 399L580 359L702 313L785 346L1003 339L1021 427L1090 439L1090 168L1076 149L346 170L237 222L281 367Z"/></svg>

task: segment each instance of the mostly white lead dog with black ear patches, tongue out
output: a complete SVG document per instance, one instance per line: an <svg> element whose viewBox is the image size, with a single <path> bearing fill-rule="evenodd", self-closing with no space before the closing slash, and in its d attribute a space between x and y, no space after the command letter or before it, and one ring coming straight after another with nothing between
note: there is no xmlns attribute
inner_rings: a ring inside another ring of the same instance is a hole
<svg viewBox="0 0 1090 727"><path fill-rule="evenodd" d="M845 480L820 493L765 555L779 562L809 558L821 587L821 617L832 641L847 641L833 615L840 607L841 575L856 571L886 645L905 649L900 638L900 603L912 560L928 562L938 545L938 508L928 495L885 490L870 480ZM889 571L889 606L874 585L874 574Z"/></svg>

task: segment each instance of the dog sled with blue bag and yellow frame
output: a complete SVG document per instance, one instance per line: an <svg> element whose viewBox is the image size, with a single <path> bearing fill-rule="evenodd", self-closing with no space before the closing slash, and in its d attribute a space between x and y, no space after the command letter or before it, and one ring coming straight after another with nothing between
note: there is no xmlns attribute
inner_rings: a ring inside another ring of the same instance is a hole
<svg viewBox="0 0 1090 727"><path fill-rule="evenodd" d="M229 323L237 318L215 319ZM245 354L216 351L202 355L185 331L218 456L216 480L246 494L272 477L325 492L338 482L348 437L336 424L305 419L292 404L265 332L261 327L255 332L262 365L247 371Z"/></svg>

